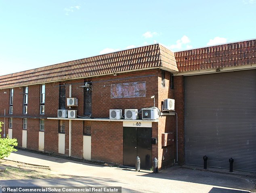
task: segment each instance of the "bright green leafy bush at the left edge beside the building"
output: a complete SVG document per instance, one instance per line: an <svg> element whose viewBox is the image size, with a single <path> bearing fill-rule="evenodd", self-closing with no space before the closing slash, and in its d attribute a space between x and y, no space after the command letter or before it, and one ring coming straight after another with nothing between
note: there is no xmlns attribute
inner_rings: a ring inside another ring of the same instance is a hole
<svg viewBox="0 0 256 193"><path fill-rule="evenodd" d="M3 122L0 122L0 132L2 132L2 124ZM3 159L4 157L8 157L11 152L17 151L14 147L18 145L17 139L9 138L7 135L6 138L1 138L0 134L0 159Z"/></svg>

